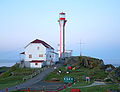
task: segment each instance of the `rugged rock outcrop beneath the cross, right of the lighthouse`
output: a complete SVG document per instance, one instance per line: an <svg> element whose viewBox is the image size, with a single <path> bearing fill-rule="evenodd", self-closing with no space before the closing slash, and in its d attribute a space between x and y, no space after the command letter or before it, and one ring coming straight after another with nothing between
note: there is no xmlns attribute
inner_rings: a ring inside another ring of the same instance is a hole
<svg viewBox="0 0 120 92"><path fill-rule="evenodd" d="M104 68L103 60L86 56L74 56L70 58L65 58L64 63L69 64L71 66L84 66L87 68Z"/></svg>

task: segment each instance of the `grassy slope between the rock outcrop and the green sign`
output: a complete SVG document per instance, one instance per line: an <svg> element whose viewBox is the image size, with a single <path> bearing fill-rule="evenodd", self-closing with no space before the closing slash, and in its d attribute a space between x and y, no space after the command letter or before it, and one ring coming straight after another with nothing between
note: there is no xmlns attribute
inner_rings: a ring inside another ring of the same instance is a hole
<svg viewBox="0 0 120 92"><path fill-rule="evenodd" d="M65 69L66 66L62 66L59 69L64 71L64 73L58 75L57 71L54 71L50 73L47 77L44 78L44 80L51 80L52 78L58 78L60 81L64 81L64 77L74 77L76 81L79 81L80 84L85 84L83 81L83 76L89 76L91 79L91 82L94 81L94 79L104 79L107 77L107 73L105 73L104 70L99 70L99 69L89 69L89 68L84 68L81 67L78 70L71 70L71 73L66 74L65 72L67 71ZM74 71L79 71L79 72L74 72Z"/></svg>

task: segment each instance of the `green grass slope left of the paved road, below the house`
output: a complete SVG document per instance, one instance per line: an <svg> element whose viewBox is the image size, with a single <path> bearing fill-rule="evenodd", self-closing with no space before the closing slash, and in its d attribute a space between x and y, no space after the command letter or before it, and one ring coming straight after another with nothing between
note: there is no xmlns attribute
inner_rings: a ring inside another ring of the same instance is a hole
<svg viewBox="0 0 120 92"><path fill-rule="evenodd" d="M19 68L19 65L12 66L8 71L6 71L0 75L0 89L14 86L14 85L24 82L23 78L28 76L28 75L24 75L25 73L32 74L33 72L35 72L37 70L38 69ZM18 74L18 75L12 76L11 75L12 72L14 74Z"/></svg>

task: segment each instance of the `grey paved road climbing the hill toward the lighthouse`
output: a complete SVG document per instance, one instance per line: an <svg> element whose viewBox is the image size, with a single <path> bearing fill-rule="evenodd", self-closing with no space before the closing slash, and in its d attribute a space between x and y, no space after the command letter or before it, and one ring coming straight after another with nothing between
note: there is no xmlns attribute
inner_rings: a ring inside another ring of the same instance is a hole
<svg viewBox="0 0 120 92"><path fill-rule="evenodd" d="M61 64L57 64L56 67L60 67L62 66ZM53 67L52 68L48 68L46 70L44 70L43 72L41 72L40 74L38 74L37 76L35 76L34 78L32 79L29 79L27 80L26 82L22 83L22 84L19 84L19 85L16 85L17 86L17 89L23 89L23 88L28 88L28 87L31 87L33 85L37 85L38 83L42 83L42 79L48 75L50 72L54 71ZM16 86L13 86L13 87L9 87L8 88L8 91L14 91L16 90ZM3 89L3 90L0 90L0 92L6 92L6 89Z"/></svg>

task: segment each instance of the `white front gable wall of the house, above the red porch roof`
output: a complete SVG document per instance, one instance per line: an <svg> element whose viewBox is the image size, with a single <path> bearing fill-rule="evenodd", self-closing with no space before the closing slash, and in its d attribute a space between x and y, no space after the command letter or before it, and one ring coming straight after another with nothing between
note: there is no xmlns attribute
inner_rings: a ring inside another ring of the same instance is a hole
<svg viewBox="0 0 120 92"><path fill-rule="evenodd" d="M29 58L29 55L32 55ZM40 57L39 55L43 55ZM31 43L25 48L25 61L44 60L46 61L46 47L41 43Z"/></svg>

